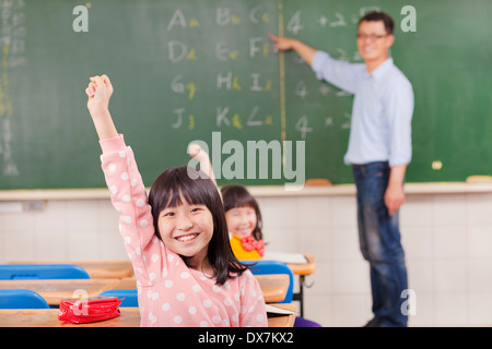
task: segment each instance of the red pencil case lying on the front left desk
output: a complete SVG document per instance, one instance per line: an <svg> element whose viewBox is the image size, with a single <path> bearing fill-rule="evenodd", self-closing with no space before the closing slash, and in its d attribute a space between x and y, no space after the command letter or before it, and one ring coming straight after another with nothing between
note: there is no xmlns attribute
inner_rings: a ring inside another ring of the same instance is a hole
<svg viewBox="0 0 492 349"><path fill-rule="evenodd" d="M90 297L86 299L63 299L60 302L58 320L70 324L84 324L119 316L118 297Z"/></svg>

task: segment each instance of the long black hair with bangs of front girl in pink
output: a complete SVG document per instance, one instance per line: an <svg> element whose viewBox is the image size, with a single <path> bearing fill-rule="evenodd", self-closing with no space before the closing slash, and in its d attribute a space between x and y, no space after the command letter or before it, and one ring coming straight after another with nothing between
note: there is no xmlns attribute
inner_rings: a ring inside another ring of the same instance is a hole
<svg viewBox="0 0 492 349"><path fill-rule="evenodd" d="M212 214L213 234L209 242L207 256L214 270L216 284L224 285L229 278L234 277L233 274L237 274L237 276L243 274L247 266L242 264L232 252L225 212L219 191L212 180L192 167L169 168L162 172L152 184L149 204L152 207L156 237L162 241L157 225L159 214L166 207L179 206L181 204L180 195L190 205L206 205ZM181 256L181 258L187 263L186 256Z"/></svg>

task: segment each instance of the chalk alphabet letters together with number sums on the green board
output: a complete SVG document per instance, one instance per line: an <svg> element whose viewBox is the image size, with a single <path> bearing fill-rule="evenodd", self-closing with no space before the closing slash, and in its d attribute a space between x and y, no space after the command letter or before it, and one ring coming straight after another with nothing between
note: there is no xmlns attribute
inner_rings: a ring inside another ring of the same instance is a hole
<svg viewBox="0 0 492 349"><path fill-rule="evenodd" d="M343 12L343 10L320 12L315 15L314 25L315 27L317 25L319 29L338 31L337 33L339 33L339 31L344 31L343 27L355 26L361 14L376 9L377 7L368 5L352 12ZM294 10L285 17L285 23L282 23L282 25L285 25L285 35L296 36L303 33L303 31L313 27L313 12L306 14L304 12ZM197 130L200 128L201 122L210 120L208 118L211 115L213 115L216 128L230 128L242 132L247 132L246 130L250 128L274 125L279 116L272 113L271 110L267 110L261 101L254 101L249 104L250 107L245 109L244 107L238 107L236 104L229 104L227 100L232 96L238 98L235 100L243 100L256 98L255 95L261 96L272 92L273 83L278 80L274 69L271 69L271 72L265 72L263 70L255 71L255 69L245 72L243 68L261 67L263 63L262 60L269 58L271 55L278 55L272 51L271 43L263 35L267 32L260 31L258 32L260 35L250 35L249 37L242 35L232 37L230 32L256 33L254 29L256 26L271 23L272 19L277 16L277 13L268 5L257 2L246 12L243 9L237 10L234 7L220 5L210 12L203 12L199 15L192 14L194 17L188 17L190 15L189 12L181 11L181 9L174 9L169 12L167 22L164 23L166 32L169 33L168 39L164 45L167 46L168 60L175 64L175 71L177 72L171 79L171 89L186 97L186 99L178 99L178 105L169 108L172 115L169 122L172 128L176 130ZM307 25L307 22L309 22L309 25ZM212 28L214 35L210 37L210 41L207 45L197 45L192 36L189 36L187 39L187 36L179 34L184 31L192 31L194 27L201 26L202 24L215 26ZM339 60L361 62L362 58L355 46L353 45L351 47L354 48L331 47L330 53ZM295 63L305 64L301 57L297 55L293 56L292 60ZM212 80L208 84L203 79L198 76L195 79L188 72L190 67L191 69L196 67L198 70L202 68L200 63L206 59L208 59L208 67L212 69L216 67L214 64L215 61L222 68L215 72L208 72L209 79ZM210 61L210 59L212 60ZM190 65L192 63L197 65ZM304 76L298 81L295 81L295 79L289 81L289 88L293 88L295 98L298 98L296 101L292 101L306 106L305 111L297 118L294 125L295 132L298 132L298 136L302 140L308 139L309 134L324 132L324 129L350 129L350 111L343 109L337 111L336 115L327 116L320 121L317 121L316 124L320 123L324 128L314 127L315 123L313 120L309 120L309 118L313 118L311 116L313 113L309 105L311 100L317 100L319 96L327 98L352 97L351 94L325 82L315 83L315 81L314 76L313 81L308 76ZM200 98L203 93L207 95L213 94L210 91L210 86L215 88L216 94L214 96L221 100L219 104L222 100L224 103L216 105L214 110L202 110L199 105L203 101ZM268 99L266 98L266 100ZM292 101L289 100L289 103ZM179 104L181 105L179 106ZM314 113L317 115L317 111Z"/></svg>

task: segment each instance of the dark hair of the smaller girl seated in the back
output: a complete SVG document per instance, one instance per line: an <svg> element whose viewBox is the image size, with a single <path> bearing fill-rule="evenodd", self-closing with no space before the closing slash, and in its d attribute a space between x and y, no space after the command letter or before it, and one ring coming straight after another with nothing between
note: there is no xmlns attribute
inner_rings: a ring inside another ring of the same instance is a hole
<svg viewBox="0 0 492 349"><path fill-rule="evenodd" d="M256 227L253 231L251 236L255 240L260 240L263 238L263 233L261 231L263 222L261 219L261 212L259 209L258 203L255 197L249 194L248 190L243 185L224 185L222 186L222 201L224 202L225 212L236 208L236 207L251 207L256 213Z"/></svg>

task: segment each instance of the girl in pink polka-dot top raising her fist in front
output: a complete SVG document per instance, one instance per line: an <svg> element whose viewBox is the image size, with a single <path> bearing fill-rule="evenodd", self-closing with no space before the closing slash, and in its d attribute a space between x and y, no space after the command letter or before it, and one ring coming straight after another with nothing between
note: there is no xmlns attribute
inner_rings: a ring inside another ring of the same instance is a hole
<svg viewBox="0 0 492 349"><path fill-rule="evenodd" d="M268 326L261 289L230 249L214 182L171 168L148 198L132 149L109 113L109 79L91 77L85 93L137 278L141 326Z"/></svg>

